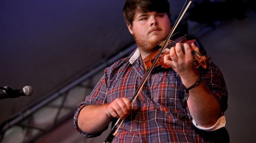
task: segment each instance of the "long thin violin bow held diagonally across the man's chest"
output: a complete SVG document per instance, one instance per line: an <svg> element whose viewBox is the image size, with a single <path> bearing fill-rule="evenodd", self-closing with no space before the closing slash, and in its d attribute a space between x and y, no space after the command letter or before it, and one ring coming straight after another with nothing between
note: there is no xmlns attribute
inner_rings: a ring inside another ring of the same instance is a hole
<svg viewBox="0 0 256 143"><path fill-rule="evenodd" d="M182 11L181 11L180 14L179 14L179 17L178 17L177 21L175 22L173 28L171 29L171 32L170 32L170 34L168 35L167 40L164 42L162 48L160 49L159 53L157 54L156 59L159 58L159 56L160 56L160 54L162 53L162 51L163 51L163 49L164 49L164 47L165 47L167 41L168 41L168 40L170 39L170 37L173 35L174 30L176 29L176 27L177 27L177 25L179 24L180 20L181 20L182 17L184 16L184 14L185 14L185 12L187 11L188 7L190 6L191 2L192 2L192 0L189 0L189 2L188 2L188 0L186 0L184 6L183 6L183 8L182 8ZM187 3L188 3L188 4L187 4ZM186 5L186 4L187 4L187 5ZM137 96L139 95L140 90L142 90L143 85L144 85L145 82L147 81L147 79L148 79L148 77L149 77L149 75L150 75L152 69L154 68L154 65L156 65L156 62L157 62L157 60L155 60L155 61L152 63L150 69L148 69L148 71L143 75L144 78L143 78L142 81L140 82L139 88L136 90L135 94L133 95L133 97L132 97L131 100L130 100L130 102L132 103L131 106L134 104L135 99L136 99ZM111 131L109 132L108 136L106 137L106 139L105 139L105 141L104 141L103 143L107 143L107 141L109 141L110 143L112 142L114 136L116 136L117 131L118 131L119 128L120 128L120 125L122 125L122 123L123 123L123 120L122 120L122 122L119 124L118 128L116 129L116 126L118 125L118 123L120 122L120 120L121 120L121 117L116 121L115 125L112 127ZM116 130L116 131L115 131L115 130ZM115 132L114 132L114 131L115 131ZM113 132L114 132L114 133L113 133Z"/></svg>

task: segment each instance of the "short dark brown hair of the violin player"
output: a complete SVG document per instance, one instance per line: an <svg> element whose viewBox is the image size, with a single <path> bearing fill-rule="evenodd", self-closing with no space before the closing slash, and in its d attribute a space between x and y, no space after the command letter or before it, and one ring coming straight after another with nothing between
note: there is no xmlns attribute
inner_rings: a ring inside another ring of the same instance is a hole
<svg viewBox="0 0 256 143"><path fill-rule="evenodd" d="M135 12L166 12L170 18L170 5L168 0L126 0L123 7L123 17L127 25L133 26Z"/></svg>

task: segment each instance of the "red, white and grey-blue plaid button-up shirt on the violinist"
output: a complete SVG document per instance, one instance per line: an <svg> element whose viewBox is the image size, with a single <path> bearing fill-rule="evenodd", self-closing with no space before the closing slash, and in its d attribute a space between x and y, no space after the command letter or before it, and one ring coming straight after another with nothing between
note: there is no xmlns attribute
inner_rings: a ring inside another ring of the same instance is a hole
<svg viewBox="0 0 256 143"><path fill-rule="evenodd" d="M85 137L99 134L86 134L77 125L79 111L88 104L105 104L116 98L131 99L145 73L139 50L121 59L109 68L97 86L77 109L74 127ZM201 69L207 86L221 102L222 113L227 109L227 89L219 68L210 63ZM117 132L113 143L204 143L193 130L188 107L182 104L184 87L179 75L173 69L165 69L150 74L138 98L132 105L131 114L126 117Z"/></svg>

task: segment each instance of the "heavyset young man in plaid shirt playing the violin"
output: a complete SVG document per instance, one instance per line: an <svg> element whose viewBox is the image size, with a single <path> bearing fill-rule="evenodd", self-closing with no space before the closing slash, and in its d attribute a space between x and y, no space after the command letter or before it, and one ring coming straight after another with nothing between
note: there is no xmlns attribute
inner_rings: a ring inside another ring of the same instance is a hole
<svg viewBox="0 0 256 143"><path fill-rule="evenodd" d="M212 62L207 69L195 68L191 50L199 53L199 48L184 44L184 54L177 43L164 57L164 63L171 68L151 73L131 105L130 99L147 70L142 59L157 50L157 44L170 33L169 3L126 0L123 15L138 48L105 69L91 95L75 113L76 130L86 137L95 137L109 122L121 117L124 121L114 143L210 141L201 133L225 126L228 95L219 68Z"/></svg>

